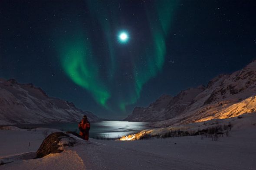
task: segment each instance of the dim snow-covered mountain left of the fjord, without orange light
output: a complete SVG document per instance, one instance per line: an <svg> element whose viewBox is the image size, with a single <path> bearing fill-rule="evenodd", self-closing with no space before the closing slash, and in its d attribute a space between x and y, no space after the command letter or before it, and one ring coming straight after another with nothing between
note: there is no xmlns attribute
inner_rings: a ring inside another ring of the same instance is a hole
<svg viewBox="0 0 256 170"><path fill-rule="evenodd" d="M0 125L78 122L83 115L90 121L100 120L92 112L76 108L73 103L47 96L31 83L0 79Z"/></svg>

